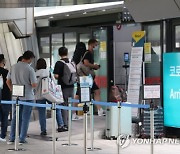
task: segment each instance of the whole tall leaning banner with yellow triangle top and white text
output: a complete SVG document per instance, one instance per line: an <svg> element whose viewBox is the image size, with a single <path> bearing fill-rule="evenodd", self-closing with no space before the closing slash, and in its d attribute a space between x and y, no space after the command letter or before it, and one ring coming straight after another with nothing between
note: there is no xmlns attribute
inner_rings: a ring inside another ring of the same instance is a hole
<svg viewBox="0 0 180 154"><path fill-rule="evenodd" d="M127 101L139 104L145 31L133 32L132 41ZM132 109L132 116L138 116L138 109Z"/></svg>

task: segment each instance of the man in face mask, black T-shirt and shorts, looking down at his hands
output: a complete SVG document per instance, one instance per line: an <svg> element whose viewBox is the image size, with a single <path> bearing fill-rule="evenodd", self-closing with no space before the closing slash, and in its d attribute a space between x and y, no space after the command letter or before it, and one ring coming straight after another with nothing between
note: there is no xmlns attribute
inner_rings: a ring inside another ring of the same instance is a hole
<svg viewBox="0 0 180 154"><path fill-rule="evenodd" d="M100 65L94 64L93 52L94 52L94 49L97 47L97 45L98 45L98 41L96 39L90 39L88 41L87 53L85 54L84 58L82 59L82 62L84 63L84 65L86 65L90 69L94 69L94 70L100 69ZM94 99L96 101L100 101L100 90L99 90L99 87L97 86L95 80L93 82L91 93L94 94ZM96 105L96 107L98 109L98 115L99 116L104 115L104 111L103 111L102 107L100 105Z"/></svg>

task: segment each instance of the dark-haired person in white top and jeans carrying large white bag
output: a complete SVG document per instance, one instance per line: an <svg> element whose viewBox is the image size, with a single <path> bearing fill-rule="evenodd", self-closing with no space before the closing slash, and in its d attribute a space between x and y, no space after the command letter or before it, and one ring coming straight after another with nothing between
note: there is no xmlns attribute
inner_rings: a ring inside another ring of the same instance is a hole
<svg viewBox="0 0 180 154"><path fill-rule="evenodd" d="M37 60L37 64L36 64L36 78L37 78L37 87L35 89L36 103L46 104L46 102L48 101L45 98L43 98L43 96L41 94L41 90L42 90L41 89L41 87L42 87L41 80L43 77L47 77L47 76L49 76L49 71L47 70L46 61L43 58L39 58ZM38 109L38 113L39 113L39 124L40 124L40 129L41 129L40 135L44 136L44 135L47 135L47 132L46 132L46 108L38 107L37 109ZM61 110L59 110L59 109L56 109L56 121L58 124L58 128L57 128L58 132L67 131L67 128L64 127Z"/></svg>

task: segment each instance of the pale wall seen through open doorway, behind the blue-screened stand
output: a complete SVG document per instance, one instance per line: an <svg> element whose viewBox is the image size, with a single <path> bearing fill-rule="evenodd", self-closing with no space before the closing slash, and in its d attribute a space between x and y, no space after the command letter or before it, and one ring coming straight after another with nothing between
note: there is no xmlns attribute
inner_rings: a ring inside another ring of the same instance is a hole
<svg viewBox="0 0 180 154"><path fill-rule="evenodd" d="M122 25L120 30L113 27L114 33L114 67L115 84L125 85L124 53L131 53L132 32L141 30L140 24ZM129 74L129 69L128 69Z"/></svg>

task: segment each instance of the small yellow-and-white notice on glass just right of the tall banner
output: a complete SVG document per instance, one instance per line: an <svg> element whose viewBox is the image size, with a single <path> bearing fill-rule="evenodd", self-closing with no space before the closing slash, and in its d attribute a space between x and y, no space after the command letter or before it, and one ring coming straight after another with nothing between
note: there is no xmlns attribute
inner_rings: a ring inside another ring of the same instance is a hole
<svg viewBox="0 0 180 154"><path fill-rule="evenodd" d="M144 62L151 63L151 43L144 43Z"/></svg>

